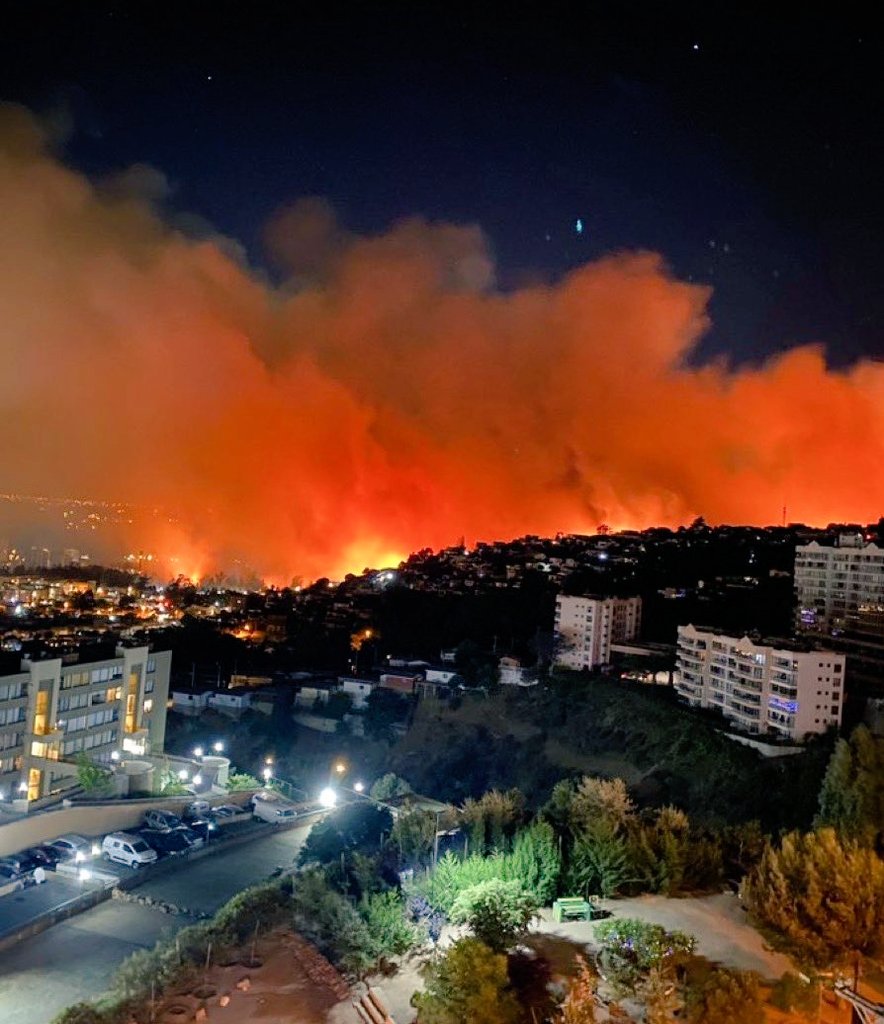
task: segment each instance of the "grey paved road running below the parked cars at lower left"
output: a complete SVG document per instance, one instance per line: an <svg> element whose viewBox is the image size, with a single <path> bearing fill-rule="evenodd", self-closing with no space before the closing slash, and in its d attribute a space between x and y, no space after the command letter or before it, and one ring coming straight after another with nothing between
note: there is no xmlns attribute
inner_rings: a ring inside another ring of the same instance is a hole
<svg viewBox="0 0 884 1024"><path fill-rule="evenodd" d="M206 913L292 862L309 824L268 833L180 870L145 882L136 891ZM191 924L148 907L110 901L27 939L0 955L2 1024L48 1024L72 1002L107 989L133 950Z"/></svg>

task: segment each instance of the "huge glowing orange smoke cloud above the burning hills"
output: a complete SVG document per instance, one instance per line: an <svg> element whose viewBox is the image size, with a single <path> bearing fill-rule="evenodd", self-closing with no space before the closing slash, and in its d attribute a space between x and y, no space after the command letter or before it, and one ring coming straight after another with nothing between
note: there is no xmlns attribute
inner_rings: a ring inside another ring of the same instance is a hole
<svg viewBox="0 0 884 1024"><path fill-rule="evenodd" d="M475 227L356 238L310 201L267 229L276 288L167 224L157 178L92 183L0 111L4 489L174 509L131 545L284 581L461 535L884 505L884 369L687 367L709 292L660 256L502 293Z"/></svg>

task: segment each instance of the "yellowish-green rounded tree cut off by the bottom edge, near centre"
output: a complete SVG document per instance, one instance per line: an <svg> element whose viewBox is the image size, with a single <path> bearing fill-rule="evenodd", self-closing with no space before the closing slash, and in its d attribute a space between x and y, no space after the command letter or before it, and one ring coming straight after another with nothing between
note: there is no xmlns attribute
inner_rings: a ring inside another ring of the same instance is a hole
<svg viewBox="0 0 884 1024"><path fill-rule="evenodd" d="M510 990L506 956L479 939L460 939L422 973L424 991L412 996L421 1024L519 1024L522 1020Z"/></svg>

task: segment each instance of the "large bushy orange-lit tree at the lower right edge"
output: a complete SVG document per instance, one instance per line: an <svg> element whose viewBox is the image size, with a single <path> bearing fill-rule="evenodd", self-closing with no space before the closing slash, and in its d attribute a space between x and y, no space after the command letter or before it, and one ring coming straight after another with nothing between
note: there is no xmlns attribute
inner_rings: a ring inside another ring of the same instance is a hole
<svg viewBox="0 0 884 1024"><path fill-rule="evenodd" d="M884 861L834 828L768 846L742 893L760 922L817 967L884 945Z"/></svg>

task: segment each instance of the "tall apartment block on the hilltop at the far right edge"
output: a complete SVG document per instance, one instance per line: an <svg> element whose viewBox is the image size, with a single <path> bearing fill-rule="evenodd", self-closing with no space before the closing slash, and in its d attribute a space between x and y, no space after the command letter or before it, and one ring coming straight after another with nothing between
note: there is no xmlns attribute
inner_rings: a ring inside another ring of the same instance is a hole
<svg viewBox="0 0 884 1024"><path fill-rule="evenodd" d="M829 633L884 611L884 548L842 534L833 548L795 549L796 626Z"/></svg>

